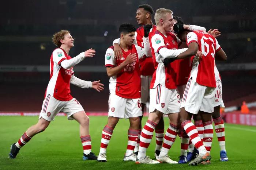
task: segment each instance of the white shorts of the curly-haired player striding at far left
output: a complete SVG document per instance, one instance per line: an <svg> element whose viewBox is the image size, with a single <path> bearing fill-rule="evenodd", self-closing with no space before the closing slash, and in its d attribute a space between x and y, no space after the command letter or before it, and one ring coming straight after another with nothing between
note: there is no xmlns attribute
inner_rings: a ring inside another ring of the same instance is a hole
<svg viewBox="0 0 256 170"><path fill-rule="evenodd" d="M72 98L69 101L60 101L48 94L43 101L39 119L42 117L45 120L52 121L61 111L67 114L68 120L73 120L70 116L76 112L84 111L84 109L76 98Z"/></svg>

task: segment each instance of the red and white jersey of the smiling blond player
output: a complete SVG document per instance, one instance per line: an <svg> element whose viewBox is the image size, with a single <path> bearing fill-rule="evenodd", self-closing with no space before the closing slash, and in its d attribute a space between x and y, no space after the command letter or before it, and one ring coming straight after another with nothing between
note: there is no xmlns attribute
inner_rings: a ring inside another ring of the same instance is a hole
<svg viewBox="0 0 256 170"><path fill-rule="evenodd" d="M158 52L163 47L172 50L178 49L178 43L180 43L180 39L177 39L176 35L174 35L172 32L167 32L165 36L158 30L152 32L149 35L149 39L155 67L155 72L152 77L150 88L155 88L158 84L161 84L168 89L177 88L176 73L174 71L176 64L172 62L170 65L165 67L163 65L164 58Z"/></svg>

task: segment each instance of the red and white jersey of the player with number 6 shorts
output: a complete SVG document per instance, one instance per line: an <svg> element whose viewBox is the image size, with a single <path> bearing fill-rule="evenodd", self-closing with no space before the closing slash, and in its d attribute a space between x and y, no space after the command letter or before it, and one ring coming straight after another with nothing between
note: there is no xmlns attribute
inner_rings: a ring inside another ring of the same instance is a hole
<svg viewBox="0 0 256 170"><path fill-rule="evenodd" d="M123 58L114 58L114 46L106 51L105 67L116 67L120 65L130 53L136 53L137 60L126 65L120 73L109 78L109 91L123 98L140 98L140 67L139 59L145 55L144 49L131 45L128 51L122 49Z"/></svg>

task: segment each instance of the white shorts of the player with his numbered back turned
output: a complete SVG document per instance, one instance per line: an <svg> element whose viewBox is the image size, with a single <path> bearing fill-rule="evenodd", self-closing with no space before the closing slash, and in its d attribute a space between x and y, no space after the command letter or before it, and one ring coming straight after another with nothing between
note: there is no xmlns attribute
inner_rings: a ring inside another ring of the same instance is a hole
<svg viewBox="0 0 256 170"><path fill-rule="evenodd" d="M197 114L200 111L212 113L214 109L214 89L197 84L195 78L190 78L187 82L181 108L189 113Z"/></svg>

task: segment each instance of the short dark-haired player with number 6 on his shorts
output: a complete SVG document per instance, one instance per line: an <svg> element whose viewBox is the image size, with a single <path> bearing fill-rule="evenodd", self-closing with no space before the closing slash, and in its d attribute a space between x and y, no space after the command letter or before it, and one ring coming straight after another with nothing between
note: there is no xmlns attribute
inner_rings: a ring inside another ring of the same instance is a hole
<svg viewBox="0 0 256 170"><path fill-rule="evenodd" d="M131 24L121 24L120 47L123 57L114 58L113 46L109 47L105 55L105 66L109 79L109 117L108 123L103 128L101 148L98 161L106 162L106 148L109 144L113 130L120 118L130 120L128 130L128 145L124 161L135 161L136 155L133 150L138 140L140 118L142 116L140 102L140 70L139 59L151 53L144 51L133 44L136 28ZM144 44L148 44L144 39ZM149 46L149 44L147 45Z"/></svg>

